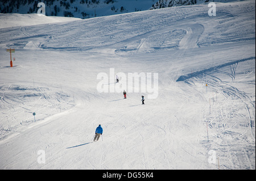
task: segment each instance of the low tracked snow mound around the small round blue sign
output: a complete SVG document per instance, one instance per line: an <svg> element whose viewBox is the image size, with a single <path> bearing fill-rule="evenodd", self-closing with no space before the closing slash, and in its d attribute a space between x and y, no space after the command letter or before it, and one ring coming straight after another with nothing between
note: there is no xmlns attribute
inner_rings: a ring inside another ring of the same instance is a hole
<svg viewBox="0 0 256 181"><path fill-rule="evenodd" d="M13 84L0 86L0 102L1 138L21 125L33 123L33 112L36 112L36 121L39 121L74 106L73 99L64 92L49 87Z"/></svg>

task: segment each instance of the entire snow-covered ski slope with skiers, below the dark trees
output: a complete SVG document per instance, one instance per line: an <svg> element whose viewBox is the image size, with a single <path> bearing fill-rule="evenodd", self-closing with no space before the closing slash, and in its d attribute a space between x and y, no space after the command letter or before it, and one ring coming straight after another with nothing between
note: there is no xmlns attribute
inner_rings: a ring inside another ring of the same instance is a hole
<svg viewBox="0 0 256 181"><path fill-rule="evenodd" d="M15 14L0 29L0 169L255 169L255 1L208 10Z"/></svg>

